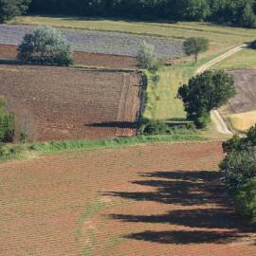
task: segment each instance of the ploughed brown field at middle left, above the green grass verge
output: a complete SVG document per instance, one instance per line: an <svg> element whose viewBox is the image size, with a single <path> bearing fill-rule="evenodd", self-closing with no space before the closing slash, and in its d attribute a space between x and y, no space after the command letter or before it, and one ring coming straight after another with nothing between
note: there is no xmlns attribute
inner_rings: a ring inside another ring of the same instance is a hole
<svg viewBox="0 0 256 256"><path fill-rule="evenodd" d="M141 76L80 68L0 65L0 95L30 139L130 137L137 133Z"/></svg>

